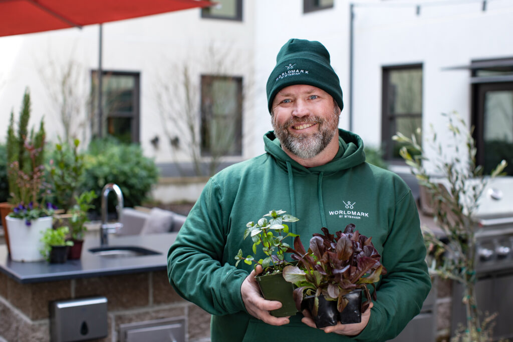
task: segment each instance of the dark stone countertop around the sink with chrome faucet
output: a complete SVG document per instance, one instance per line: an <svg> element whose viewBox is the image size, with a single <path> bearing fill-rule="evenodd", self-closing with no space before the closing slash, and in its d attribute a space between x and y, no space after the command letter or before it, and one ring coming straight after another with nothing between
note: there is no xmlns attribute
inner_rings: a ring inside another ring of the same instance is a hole
<svg viewBox="0 0 513 342"><path fill-rule="evenodd" d="M82 257L68 260L65 264L49 264L47 261L21 263L12 261L7 246L0 246L0 272L18 283L44 283L47 281L96 277L115 274L161 271L167 268L167 252L177 233L109 236L109 246L137 246L157 255L133 257L105 257L93 255L88 250L100 246L99 238L84 241Z"/></svg>

